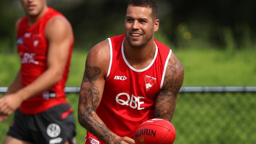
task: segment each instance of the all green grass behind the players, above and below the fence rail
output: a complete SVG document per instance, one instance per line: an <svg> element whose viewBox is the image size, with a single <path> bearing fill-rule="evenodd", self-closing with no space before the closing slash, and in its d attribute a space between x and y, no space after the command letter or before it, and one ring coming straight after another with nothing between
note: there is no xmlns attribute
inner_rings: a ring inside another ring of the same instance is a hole
<svg viewBox="0 0 256 144"><path fill-rule="evenodd" d="M185 70L183 86L256 86L256 53L253 50L227 53L213 49L173 49ZM67 86L79 87L87 52L74 51ZM19 70L16 54L0 54L0 87L11 84ZM2 94L0 94L2 96ZM77 121L78 94L67 98L76 117L78 144L86 130ZM256 143L255 93L181 93L173 121L175 144ZM0 122L6 133L12 118ZM0 143L4 135L0 136Z"/></svg>

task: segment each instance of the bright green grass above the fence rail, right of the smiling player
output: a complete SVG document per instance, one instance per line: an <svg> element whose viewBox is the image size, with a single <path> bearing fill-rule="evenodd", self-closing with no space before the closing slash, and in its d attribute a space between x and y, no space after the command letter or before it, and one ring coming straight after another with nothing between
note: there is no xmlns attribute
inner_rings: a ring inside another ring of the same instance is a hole
<svg viewBox="0 0 256 144"><path fill-rule="evenodd" d="M173 50L184 66L183 86L255 86L256 52Z"/></svg>

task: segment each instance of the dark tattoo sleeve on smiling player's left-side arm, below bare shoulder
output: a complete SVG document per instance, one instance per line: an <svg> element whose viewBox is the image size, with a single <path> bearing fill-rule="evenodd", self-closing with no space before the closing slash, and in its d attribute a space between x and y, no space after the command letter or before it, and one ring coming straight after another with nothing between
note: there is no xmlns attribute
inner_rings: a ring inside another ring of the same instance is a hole
<svg viewBox="0 0 256 144"><path fill-rule="evenodd" d="M78 120L93 135L110 143L116 135L96 115L95 105L100 100L100 91L95 82L100 73L101 69L98 66L90 66L87 61L85 62L83 83L80 89Z"/></svg>

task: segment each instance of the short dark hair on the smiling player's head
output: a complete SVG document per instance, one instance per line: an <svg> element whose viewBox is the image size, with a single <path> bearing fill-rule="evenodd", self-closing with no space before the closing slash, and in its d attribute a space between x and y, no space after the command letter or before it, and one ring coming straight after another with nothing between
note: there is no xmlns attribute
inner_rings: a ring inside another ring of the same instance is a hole
<svg viewBox="0 0 256 144"><path fill-rule="evenodd" d="M130 6L130 5L151 8L153 17L155 19L158 18L158 7L154 0L131 0L130 3L128 4L128 6Z"/></svg>

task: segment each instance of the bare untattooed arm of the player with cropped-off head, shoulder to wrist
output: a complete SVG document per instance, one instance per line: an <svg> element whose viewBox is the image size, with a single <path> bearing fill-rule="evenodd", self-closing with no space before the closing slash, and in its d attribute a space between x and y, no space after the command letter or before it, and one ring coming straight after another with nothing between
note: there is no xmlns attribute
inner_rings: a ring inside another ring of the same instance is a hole
<svg viewBox="0 0 256 144"><path fill-rule="evenodd" d="M66 18L56 16L46 24L45 35L48 40L48 68L30 85L17 91L24 100L48 90L63 77L73 39L71 25Z"/></svg>

